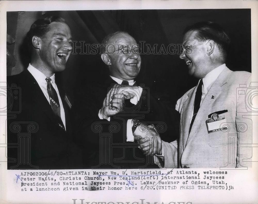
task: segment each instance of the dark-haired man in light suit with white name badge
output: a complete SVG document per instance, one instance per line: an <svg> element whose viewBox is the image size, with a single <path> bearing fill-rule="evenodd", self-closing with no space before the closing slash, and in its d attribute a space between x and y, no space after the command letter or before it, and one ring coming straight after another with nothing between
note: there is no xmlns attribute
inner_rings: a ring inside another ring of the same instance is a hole
<svg viewBox="0 0 258 204"><path fill-rule="evenodd" d="M250 166L252 123L245 106L251 73L232 72L226 65L229 37L213 22L200 22L185 30L180 58L189 74L199 79L176 104L180 138L160 139L134 133L144 154L154 155L160 168L236 168Z"/></svg>

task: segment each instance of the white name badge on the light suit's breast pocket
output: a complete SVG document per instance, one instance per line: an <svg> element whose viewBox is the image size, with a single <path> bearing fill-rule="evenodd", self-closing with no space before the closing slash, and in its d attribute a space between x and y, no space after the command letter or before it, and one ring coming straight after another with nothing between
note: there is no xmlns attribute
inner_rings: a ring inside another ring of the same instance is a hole
<svg viewBox="0 0 258 204"><path fill-rule="evenodd" d="M208 117L210 118L206 120L208 133L228 129L227 127L221 128L221 124L226 122L226 119L225 119L225 116L219 116L219 114L226 113L226 112L228 112L228 110L217 111L215 113L208 115Z"/></svg>

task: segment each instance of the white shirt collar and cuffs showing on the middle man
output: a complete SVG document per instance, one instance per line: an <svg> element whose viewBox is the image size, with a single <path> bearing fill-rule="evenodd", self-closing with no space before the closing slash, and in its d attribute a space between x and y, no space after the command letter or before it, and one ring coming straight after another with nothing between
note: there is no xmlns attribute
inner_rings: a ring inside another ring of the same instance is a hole
<svg viewBox="0 0 258 204"><path fill-rule="evenodd" d="M121 79L118 79L114 76L110 76L112 80L114 80L115 82L117 82L118 84L122 84L123 80ZM129 86L132 86L135 84L135 81L134 80L128 80L128 84ZM130 102L134 105L136 105L138 103L138 101L140 100L140 96L142 94L142 88L141 87L138 87L138 90L137 90L137 93L135 95L135 97L131 98L130 99ZM101 120L103 120L103 117L100 115L100 110L99 110L99 118ZM108 117L107 119L108 121L110 121L110 117ZM132 120L133 119L128 119L127 120L127 124L126 124L126 141L127 142L133 142L134 141L134 136L133 136L133 131L132 131Z"/></svg>

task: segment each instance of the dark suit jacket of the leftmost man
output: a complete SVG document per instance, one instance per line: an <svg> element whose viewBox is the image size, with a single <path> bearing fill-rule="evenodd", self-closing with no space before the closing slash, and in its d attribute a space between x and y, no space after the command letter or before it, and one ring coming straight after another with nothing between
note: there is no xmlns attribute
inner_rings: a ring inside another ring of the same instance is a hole
<svg viewBox="0 0 258 204"><path fill-rule="evenodd" d="M7 77L7 84L16 86L10 88L12 96L14 90L20 92L18 100L7 99L7 104L11 104L7 113L8 169L76 168L79 158L73 152L76 147L72 143L70 108L64 100L65 93L58 87L66 131L59 127L50 104L27 69Z"/></svg>

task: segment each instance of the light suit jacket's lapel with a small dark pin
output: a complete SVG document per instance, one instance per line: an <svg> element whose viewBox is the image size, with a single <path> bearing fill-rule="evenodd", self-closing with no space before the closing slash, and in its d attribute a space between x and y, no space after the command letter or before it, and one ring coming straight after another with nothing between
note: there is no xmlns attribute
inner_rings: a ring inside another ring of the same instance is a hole
<svg viewBox="0 0 258 204"><path fill-rule="evenodd" d="M205 98L203 99L203 102L201 103L201 106L196 115L195 121L193 122L192 129L188 137L188 141L190 141L190 139L196 134L196 132L198 132L200 125L205 125L205 121L208 119L208 114L210 114L210 109L214 103L214 99L212 98L216 99L220 95L222 86L227 83L228 77L231 72L232 71L226 67L220 73L220 75L215 80L215 82L213 82L211 88L208 90ZM194 101L194 97L193 97L193 101ZM190 105L192 105L190 106L190 108L192 108L193 104L190 104Z"/></svg>

